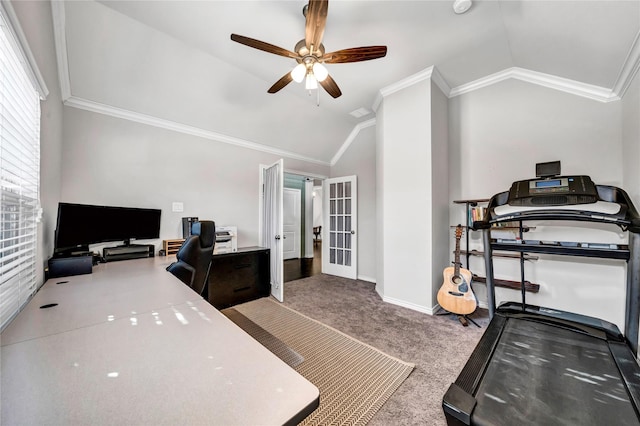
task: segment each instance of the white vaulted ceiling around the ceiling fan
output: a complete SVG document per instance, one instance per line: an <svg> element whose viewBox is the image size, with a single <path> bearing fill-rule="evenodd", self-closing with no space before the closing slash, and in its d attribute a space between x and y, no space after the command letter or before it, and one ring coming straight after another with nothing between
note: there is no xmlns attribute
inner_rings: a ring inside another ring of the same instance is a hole
<svg viewBox="0 0 640 426"><path fill-rule="evenodd" d="M513 67L613 90L623 67L638 61L630 56L640 32L638 0L475 1L463 15L449 0L332 0L327 51L382 44L388 54L327 65L343 95L321 91L317 106L316 93L300 84L266 93L294 60L229 38L237 33L294 50L304 37L304 4L66 2L70 94L329 163L358 123L374 117L356 119L351 111L372 109L381 89L431 66L452 92Z"/></svg>

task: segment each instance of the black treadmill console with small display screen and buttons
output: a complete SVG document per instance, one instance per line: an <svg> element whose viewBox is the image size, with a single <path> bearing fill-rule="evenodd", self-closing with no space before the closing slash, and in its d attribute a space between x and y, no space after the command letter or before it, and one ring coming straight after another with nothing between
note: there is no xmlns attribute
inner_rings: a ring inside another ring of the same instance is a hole
<svg viewBox="0 0 640 426"><path fill-rule="evenodd" d="M512 206L567 206L598 201L589 176L558 176L514 182L509 190Z"/></svg>

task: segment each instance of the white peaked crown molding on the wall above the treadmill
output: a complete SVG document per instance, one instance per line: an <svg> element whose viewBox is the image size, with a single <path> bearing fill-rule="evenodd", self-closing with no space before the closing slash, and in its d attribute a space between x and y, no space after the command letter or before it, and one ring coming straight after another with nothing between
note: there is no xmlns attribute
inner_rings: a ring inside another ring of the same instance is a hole
<svg viewBox="0 0 640 426"><path fill-rule="evenodd" d="M527 83L582 96L599 102L620 100L620 97L611 89L518 67L507 68L495 74L455 87L451 90L449 97L460 96L509 79L526 81Z"/></svg>

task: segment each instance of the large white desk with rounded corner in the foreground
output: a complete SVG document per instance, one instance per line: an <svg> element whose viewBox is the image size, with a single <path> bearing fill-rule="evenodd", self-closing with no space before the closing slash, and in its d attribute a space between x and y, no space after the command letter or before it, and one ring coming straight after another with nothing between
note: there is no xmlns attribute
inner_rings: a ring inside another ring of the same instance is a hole
<svg viewBox="0 0 640 426"><path fill-rule="evenodd" d="M0 335L0 423L278 425L310 414L318 389L166 272L170 260L47 281Z"/></svg>

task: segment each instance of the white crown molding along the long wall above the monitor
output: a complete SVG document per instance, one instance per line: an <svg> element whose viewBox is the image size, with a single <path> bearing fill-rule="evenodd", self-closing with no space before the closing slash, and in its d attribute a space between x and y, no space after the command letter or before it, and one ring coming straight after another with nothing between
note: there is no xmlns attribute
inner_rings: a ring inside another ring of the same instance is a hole
<svg viewBox="0 0 640 426"><path fill-rule="evenodd" d="M133 121L140 124L146 124L148 126L158 127L161 129L171 130L178 133L184 133L191 136L197 136L204 139L227 143L229 145L235 145L242 148L253 149L255 151L266 152L268 154L274 154L281 157L287 157L295 160L305 161L307 163L319 164L322 166L330 166L330 164L327 163L326 161L316 160L311 157L305 157L303 155L299 155L299 154L285 151L282 149L262 145L256 142L235 138L233 136L212 132L210 130L204 130L199 127L189 126L186 124L177 123L175 121L165 120L165 119L154 117L151 115L141 114L135 111L129 111L126 109L117 108L111 105L93 102L93 101L78 98L75 96L69 97L67 100L64 101L64 104L66 106L82 109L85 111L91 111L98 114L109 115L111 117Z"/></svg>

